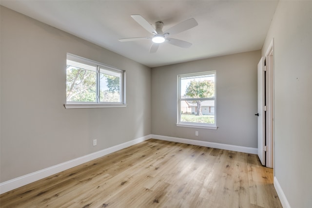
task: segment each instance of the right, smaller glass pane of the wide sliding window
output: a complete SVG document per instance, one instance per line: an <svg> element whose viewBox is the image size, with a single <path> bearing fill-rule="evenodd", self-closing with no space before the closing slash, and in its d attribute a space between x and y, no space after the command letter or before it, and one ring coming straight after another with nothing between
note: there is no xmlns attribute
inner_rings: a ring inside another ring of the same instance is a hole
<svg viewBox="0 0 312 208"><path fill-rule="evenodd" d="M99 101L121 102L121 73L100 68L99 75Z"/></svg>

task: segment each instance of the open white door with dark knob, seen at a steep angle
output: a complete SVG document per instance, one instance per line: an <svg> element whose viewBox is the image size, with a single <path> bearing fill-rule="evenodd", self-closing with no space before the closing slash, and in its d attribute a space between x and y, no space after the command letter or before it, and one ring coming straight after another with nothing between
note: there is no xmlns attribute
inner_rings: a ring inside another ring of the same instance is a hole
<svg viewBox="0 0 312 208"><path fill-rule="evenodd" d="M258 63L258 156L265 165L265 57Z"/></svg>

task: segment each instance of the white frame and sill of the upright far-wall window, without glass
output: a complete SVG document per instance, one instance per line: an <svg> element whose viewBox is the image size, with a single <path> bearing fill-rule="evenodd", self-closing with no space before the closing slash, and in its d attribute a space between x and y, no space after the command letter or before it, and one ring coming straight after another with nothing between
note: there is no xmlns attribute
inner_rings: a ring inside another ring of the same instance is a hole
<svg viewBox="0 0 312 208"><path fill-rule="evenodd" d="M205 76L205 75L214 75L215 76L215 97L207 98L181 98L181 78L190 77L190 76ZM205 123L195 123L195 122L181 122L181 101L191 101L191 100L215 100L215 123L214 124L205 124ZM189 128L198 128L198 129L212 129L216 130L216 71L208 72L199 72L192 74L184 74L177 76L177 127L189 127Z"/></svg>

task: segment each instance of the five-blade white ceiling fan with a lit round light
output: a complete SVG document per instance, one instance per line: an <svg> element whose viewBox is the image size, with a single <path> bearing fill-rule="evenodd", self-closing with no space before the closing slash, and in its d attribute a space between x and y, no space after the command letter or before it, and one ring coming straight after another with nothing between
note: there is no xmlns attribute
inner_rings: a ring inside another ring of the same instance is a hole
<svg viewBox="0 0 312 208"><path fill-rule="evenodd" d="M188 48L192 45L192 43L184 41L184 40L179 40L175 38L168 38L168 36L183 32L185 30L191 29L195 26L198 25L196 20L194 18L187 19L185 21L182 21L175 26L169 28L165 32L162 32L162 27L164 25L163 22L157 21L155 22L155 29L154 27L142 16L140 15L131 15L131 17L137 21L139 25L141 25L145 30L148 32L152 33L152 37L140 37L140 38L122 38L118 39L121 42L124 41L136 41L136 40L146 40L146 39L152 39L153 44L150 48L150 53L155 53L159 47L159 44L162 42L168 42L172 45L182 47L182 48Z"/></svg>

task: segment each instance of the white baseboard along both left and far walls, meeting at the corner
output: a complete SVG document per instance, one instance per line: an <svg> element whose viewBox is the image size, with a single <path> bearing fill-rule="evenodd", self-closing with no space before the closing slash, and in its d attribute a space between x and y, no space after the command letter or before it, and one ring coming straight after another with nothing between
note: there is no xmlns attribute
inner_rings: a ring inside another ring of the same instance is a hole
<svg viewBox="0 0 312 208"><path fill-rule="evenodd" d="M0 194L5 193L7 191L17 189L19 187L22 187L24 185L30 184L32 182L38 181L42 178L54 175L58 172L73 168L75 166L81 165L83 163L89 162L91 160L97 159L99 157L105 156L107 154L110 154L112 152L130 147L131 145L135 145L137 143L143 142L148 139L159 139L159 140L166 140L166 141L172 141L172 142L179 142L179 143L185 143L185 144L192 144L192 145L198 145L203 147L211 147L211 148L218 148L223 150L231 150L231 151L240 151L240 152L246 152L246 153L252 153L257 154L256 148L249 148L249 147L242 147L242 146L235 146L235 145L227 145L227 144L221 144L221 143L214 143L214 142L206 142L206 141L199 141L199 140L193 140L193 139L183 139L178 137L171 137L171 136L161 136L161 135L155 135L155 134L149 134L134 140L131 140L129 142L125 142L101 151L93 152L91 154L84 155L82 157L78 157L76 159L66 161L64 163L38 170L36 172L29 173L27 175L20 176L18 178L14 178L9 181L5 181L3 183L0 183Z"/></svg>

